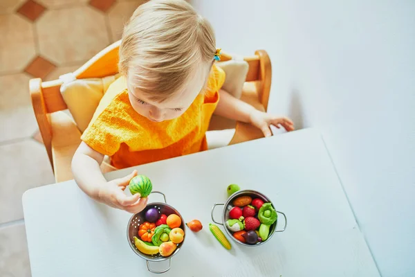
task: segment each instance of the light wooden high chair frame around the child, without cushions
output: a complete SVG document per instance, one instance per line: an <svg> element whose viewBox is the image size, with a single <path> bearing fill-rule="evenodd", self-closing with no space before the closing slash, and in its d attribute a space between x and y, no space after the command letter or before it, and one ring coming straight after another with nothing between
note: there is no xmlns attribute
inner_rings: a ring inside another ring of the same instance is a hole
<svg viewBox="0 0 415 277"><path fill-rule="evenodd" d="M80 69L73 72L77 79L104 78L118 73L118 48L120 42L115 42L104 48ZM232 57L222 53L221 61ZM271 63L264 50L256 51L255 55L244 57L249 69L246 82L243 85L241 100L255 108L266 111L271 84ZM30 96L40 133L48 153L55 181L73 179L71 160L80 144L80 129L71 116L64 112L66 102L60 93L62 80L42 82L40 78L30 80ZM235 128L230 145L259 139L262 132L246 123L233 123L220 116L213 116L210 130Z"/></svg>

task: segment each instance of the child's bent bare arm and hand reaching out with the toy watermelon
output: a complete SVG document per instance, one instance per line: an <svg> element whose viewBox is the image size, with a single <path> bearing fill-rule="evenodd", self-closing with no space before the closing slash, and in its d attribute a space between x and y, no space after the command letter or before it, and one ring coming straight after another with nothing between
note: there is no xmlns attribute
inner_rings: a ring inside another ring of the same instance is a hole
<svg viewBox="0 0 415 277"><path fill-rule="evenodd" d="M140 198L139 193L132 196L124 194L131 178L137 175L136 170L126 177L107 181L100 169L103 159L103 154L82 141L72 159L72 172L77 185L98 202L130 213L142 211L147 205L147 197Z"/></svg>

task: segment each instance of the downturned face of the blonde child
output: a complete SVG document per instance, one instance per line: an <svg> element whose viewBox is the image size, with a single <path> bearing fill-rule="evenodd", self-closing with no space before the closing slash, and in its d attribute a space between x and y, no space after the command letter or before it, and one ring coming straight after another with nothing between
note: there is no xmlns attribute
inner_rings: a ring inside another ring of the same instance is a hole
<svg viewBox="0 0 415 277"><path fill-rule="evenodd" d="M183 91L178 91L171 98L161 103L149 100L144 93L138 89L132 89L129 78L127 78L129 100L131 106L138 114L145 116L151 121L161 122L181 116L189 107L196 96L201 93L206 78L210 72L210 66L197 66L194 74L187 80Z"/></svg>

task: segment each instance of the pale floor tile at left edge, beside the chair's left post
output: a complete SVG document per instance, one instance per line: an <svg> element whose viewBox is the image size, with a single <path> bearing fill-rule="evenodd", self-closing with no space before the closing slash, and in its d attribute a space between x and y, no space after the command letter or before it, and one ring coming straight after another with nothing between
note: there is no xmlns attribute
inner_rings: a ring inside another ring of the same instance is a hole
<svg viewBox="0 0 415 277"><path fill-rule="evenodd" d="M0 76L0 142L30 137L37 129L26 73Z"/></svg>

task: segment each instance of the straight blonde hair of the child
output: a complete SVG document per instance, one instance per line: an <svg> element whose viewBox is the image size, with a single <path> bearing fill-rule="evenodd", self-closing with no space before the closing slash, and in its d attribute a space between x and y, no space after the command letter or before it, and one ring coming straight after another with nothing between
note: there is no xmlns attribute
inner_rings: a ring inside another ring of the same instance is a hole
<svg viewBox="0 0 415 277"><path fill-rule="evenodd" d="M183 89L195 64L212 64L215 53L212 26L189 3L151 0L124 28L119 71L134 89L163 102Z"/></svg>

